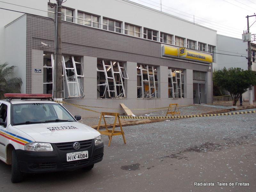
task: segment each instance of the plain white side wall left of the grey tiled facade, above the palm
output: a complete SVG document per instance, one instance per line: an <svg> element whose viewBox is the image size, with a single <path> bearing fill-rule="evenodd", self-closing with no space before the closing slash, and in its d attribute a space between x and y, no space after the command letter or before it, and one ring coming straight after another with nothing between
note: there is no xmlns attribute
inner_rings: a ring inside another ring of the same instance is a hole
<svg viewBox="0 0 256 192"><path fill-rule="evenodd" d="M5 38L0 44L4 57L0 57L1 63L8 62L9 66L16 66L16 74L22 79L21 92L26 92L26 20L24 15L18 20L5 27ZM18 30L17 30L18 29ZM4 58L4 59L2 59Z"/></svg>

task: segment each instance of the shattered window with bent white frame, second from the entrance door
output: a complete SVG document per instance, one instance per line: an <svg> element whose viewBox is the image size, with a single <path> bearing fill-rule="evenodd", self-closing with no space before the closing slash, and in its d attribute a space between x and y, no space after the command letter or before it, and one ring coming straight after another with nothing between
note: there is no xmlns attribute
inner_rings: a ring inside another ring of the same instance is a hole
<svg viewBox="0 0 256 192"><path fill-rule="evenodd" d="M137 65L137 98L158 98L157 66Z"/></svg>

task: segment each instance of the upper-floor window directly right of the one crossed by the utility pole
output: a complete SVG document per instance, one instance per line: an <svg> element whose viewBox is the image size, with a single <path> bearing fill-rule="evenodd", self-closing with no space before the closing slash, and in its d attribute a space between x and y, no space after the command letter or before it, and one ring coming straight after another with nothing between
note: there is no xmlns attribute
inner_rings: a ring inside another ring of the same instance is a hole
<svg viewBox="0 0 256 192"><path fill-rule="evenodd" d="M77 12L77 23L99 28L99 17L83 12Z"/></svg>

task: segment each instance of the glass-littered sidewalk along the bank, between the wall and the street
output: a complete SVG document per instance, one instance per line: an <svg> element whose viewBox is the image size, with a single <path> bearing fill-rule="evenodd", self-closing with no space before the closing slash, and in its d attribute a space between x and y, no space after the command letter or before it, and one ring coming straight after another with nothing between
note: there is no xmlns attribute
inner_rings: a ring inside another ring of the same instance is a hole
<svg viewBox="0 0 256 192"><path fill-rule="evenodd" d="M252 108L256 108L256 102L253 102L253 105L249 105L248 101L243 101L242 106L240 106L240 102L237 102L237 106L232 106L232 103L222 103L222 104L214 104L214 105L195 104L192 106L179 107L181 116L226 113L226 112L236 111L236 110L244 110L244 109L249 110ZM132 111L132 112L136 116L166 116L167 110L168 109L164 109L161 111L152 111L150 113L143 113L143 111ZM108 117L105 119L108 127L113 127L115 118ZM97 129L99 120L100 120L100 115L98 117L83 118L79 122ZM121 119L121 124L122 126L126 126L126 125L135 125L135 124L153 123L153 122L165 121L165 120L167 119L129 119L129 120ZM175 120L175 119L168 119L168 120ZM118 121L117 121L117 125L118 125ZM100 122L100 128L103 128L103 127L105 127L105 125L102 118Z"/></svg>

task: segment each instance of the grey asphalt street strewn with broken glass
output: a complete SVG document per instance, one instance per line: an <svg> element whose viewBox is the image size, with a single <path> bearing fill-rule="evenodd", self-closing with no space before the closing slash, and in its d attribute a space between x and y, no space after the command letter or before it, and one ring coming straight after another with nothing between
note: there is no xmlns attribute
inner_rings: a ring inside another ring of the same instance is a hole
<svg viewBox="0 0 256 192"><path fill-rule="evenodd" d="M12 184L11 167L0 162L0 191L254 192L255 117L252 113L124 126L127 143L118 135L108 147L103 135L104 158L91 171L26 175L22 183Z"/></svg>

